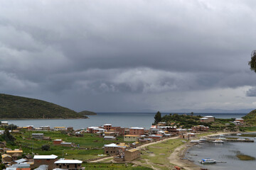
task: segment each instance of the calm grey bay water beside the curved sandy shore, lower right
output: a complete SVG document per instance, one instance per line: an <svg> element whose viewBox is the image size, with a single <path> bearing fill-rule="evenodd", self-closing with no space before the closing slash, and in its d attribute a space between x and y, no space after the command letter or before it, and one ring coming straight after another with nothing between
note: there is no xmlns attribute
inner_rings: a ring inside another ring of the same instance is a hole
<svg viewBox="0 0 256 170"><path fill-rule="evenodd" d="M238 137L238 136L232 136ZM246 137L254 140L253 137ZM188 150L189 153L186 157L191 159L202 167L210 170L240 170L240 169L256 169L256 161L242 161L236 157L236 154L246 154L256 158L256 141L255 142L224 142L223 144L214 144L205 142L201 147L192 147ZM197 156L191 156L197 154ZM213 158L217 161L223 161L227 163L207 164L202 165L198 163L198 160L203 158Z"/></svg>

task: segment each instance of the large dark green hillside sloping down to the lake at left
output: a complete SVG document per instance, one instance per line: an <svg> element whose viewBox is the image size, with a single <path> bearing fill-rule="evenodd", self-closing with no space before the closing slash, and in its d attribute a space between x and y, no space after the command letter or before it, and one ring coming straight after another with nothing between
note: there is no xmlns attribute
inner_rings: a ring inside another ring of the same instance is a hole
<svg viewBox="0 0 256 170"><path fill-rule="evenodd" d="M87 118L69 108L33 98L0 94L0 119L3 118Z"/></svg>

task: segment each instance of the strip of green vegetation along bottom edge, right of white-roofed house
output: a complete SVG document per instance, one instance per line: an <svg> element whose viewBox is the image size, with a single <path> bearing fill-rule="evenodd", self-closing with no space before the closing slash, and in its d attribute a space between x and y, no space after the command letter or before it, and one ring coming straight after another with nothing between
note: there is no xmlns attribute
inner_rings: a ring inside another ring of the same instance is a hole
<svg viewBox="0 0 256 170"><path fill-rule="evenodd" d="M150 168L144 166L134 166L134 164L116 164L116 163L85 163L82 164L85 166L85 169L99 169L99 170L118 170L118 169L127 169L127 170L151 170Z"/></svg>

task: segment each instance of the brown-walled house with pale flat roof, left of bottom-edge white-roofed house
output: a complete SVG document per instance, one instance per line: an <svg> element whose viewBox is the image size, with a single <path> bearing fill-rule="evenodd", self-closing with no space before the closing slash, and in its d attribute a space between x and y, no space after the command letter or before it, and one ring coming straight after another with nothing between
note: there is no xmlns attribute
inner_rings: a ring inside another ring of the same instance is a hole
<svg viewBox="0 0 256 170"><path fill-rule="evenodd" d="M58 158L58 156L56 156L55 154L51 154L51 155L35 155L33 157L33 159L34 159L33 168L37 168L41 164L46 164L46 165L48 165L48 169L52 170L52 169L55 168L54 162L56 162L58 160L57 158Z"/></svg>

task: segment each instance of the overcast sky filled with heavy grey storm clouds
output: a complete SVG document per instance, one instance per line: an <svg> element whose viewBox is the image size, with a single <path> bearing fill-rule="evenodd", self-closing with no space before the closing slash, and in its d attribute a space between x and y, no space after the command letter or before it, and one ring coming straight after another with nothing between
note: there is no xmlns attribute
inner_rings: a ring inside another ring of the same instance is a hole
<svg viewBox="0 0 256 170"><path fill-rule="evenodd" d="M1 0L0 93L74 111L256 107L253 0Z"/></svg>

